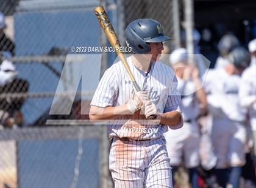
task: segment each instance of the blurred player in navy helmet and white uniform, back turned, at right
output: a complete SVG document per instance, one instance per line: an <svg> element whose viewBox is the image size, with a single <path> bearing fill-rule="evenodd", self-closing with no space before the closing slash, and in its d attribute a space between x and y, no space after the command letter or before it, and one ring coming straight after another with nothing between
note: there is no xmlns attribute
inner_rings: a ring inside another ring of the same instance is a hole
<svg viewBox="0 0 256 188"><path fill-rule="evenodd" d="M245 163L246 110L239 104L240 75L249 64L249 53L237 47L224 69L205 75L208 109L213 116L212 143L217 157L216 178L220 186L239 187L241 166Z"/></svg>

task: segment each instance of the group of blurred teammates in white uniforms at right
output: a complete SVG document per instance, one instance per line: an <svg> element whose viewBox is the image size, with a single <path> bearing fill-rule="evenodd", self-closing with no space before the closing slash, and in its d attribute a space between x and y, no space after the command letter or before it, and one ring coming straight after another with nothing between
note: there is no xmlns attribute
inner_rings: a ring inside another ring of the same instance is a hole
<svg viewBox="0 0 256 188"><path fill-rule="evenodd" d="M181 129L165 134L175 187L181 186L180 166L187 170L191 187L256 186L255 48L256 39L249 42L248 51L227 33L218 42L214 69L203 69L202 76L202 56L190 56L185 48L169 56L184 120Z"/></svg>

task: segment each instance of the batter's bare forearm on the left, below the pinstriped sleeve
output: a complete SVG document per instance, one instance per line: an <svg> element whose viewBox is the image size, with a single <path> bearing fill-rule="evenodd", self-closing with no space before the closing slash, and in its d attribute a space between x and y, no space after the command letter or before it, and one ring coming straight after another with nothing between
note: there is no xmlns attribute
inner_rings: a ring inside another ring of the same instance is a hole
<svg viewBox="0 0 256 188"><path fill-rule="evenodd" d="M115 119L122 115L130 114L127 105L118 107L95 108L91 107L89 118L93 123L104 121L105 119Z"/></svg>

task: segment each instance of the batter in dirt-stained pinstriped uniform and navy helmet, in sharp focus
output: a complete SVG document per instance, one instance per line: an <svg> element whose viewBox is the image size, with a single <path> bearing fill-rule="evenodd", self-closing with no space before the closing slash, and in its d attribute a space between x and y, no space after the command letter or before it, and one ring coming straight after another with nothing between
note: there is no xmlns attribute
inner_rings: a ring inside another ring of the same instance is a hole
<svg viewBox="0 0 256 188"><path fill-rule="evenodd" d="M168 127L179 129L183 120L176 76L170 67L158 62L162 42L171 38L153 19L131 22L125 37L133 53L127 63L141 91L135 91L123 63L118 61L99 82L91 101L90 119L113 119L108 136L115 187L172 187L163 133ZM142 123L133 118L140 109ZM157 115L154 124L146 120L151 115Z"/></svg>

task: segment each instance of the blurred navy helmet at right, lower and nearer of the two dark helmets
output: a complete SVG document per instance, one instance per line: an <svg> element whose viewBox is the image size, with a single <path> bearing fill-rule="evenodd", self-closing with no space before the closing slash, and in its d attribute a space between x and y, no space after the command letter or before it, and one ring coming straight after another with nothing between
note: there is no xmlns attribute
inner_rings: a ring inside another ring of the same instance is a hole
<svg viewBox="0 0 256 188"><path fill-rule="evenodd" d="M251 56L244 47L236 47L229 53L229 60L237 69L245 69L250 64Z"/></svg>

